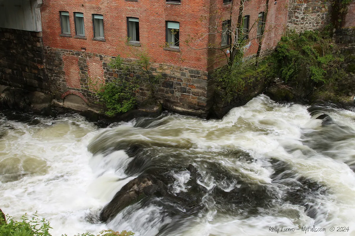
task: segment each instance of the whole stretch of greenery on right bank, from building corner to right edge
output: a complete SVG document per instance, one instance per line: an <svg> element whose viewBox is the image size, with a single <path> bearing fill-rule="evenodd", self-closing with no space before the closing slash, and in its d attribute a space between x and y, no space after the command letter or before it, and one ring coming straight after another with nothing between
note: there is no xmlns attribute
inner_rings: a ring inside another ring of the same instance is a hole
<svg viewBox="0 0 355 236"><path fill-rule="evenodd" d="M242 62L241 57L242 54L236 56L232 65L217 69L213 75L217 90L225 91L227 102L253 81L275 77L293 87L301 82L302 86L327 88L337 96L341 96L342 91L351 93L349 88L352 86L347 82L349 78L341 65L346 62L346 70L355 71L355 57L340 53L329 31L288 32L257 67L253 67L251 61Z"/></svg>

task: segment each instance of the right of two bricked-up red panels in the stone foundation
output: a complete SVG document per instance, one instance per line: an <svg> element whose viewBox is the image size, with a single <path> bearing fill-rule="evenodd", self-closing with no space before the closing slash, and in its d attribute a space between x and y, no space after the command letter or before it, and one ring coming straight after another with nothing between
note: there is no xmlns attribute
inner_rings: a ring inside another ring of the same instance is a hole
<svg viewBox="0 0 355 236"><path fill-rule="evenodd" d="M102 68L102 61L100 58L93 58L87 60L89 81L89 90L98 91L100 87L105 84L104 70Z"/></svg>

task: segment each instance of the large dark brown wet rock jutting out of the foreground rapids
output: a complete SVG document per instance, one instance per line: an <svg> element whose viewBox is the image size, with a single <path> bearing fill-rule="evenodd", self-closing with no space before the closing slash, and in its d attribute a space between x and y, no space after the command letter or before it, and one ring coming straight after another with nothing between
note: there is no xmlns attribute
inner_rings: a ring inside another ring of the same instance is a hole
<svg viewBox="0 0 355 236"><path fill-rule="evenodd" d="M186 192L172 193L170 185L175 179L168 173L162 173L156 169L150 169L137 178L127 183L108 205L100 213L100 220L106 222L113 219L122 209L142 200L142 202L152 202L163 205L166 208L170 206L173 214L191 215L202 209L202 194L206 189L196 183L198 172L192 165L185 168L190 171L191 178L186 185L190 188ZM157 200L162 198L163 200ZM184 209L179 211L176 207Z"/></svg>

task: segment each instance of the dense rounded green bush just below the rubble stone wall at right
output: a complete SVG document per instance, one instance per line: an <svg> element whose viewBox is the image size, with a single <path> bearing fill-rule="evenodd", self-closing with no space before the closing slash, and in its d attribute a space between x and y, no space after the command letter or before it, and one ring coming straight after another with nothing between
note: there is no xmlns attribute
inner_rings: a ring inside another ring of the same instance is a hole
<svg viewBox="0 0 355 236"><path fill-rule="evenodd" d="M337 78L340 63L344 61L337 55L337 46L329 37L329 32L304 31L296 34L288 32L281 38L268 63L277 77L286 82L297 80L301 71L309 74L309 78L316 83L328 84Z"/></svg>

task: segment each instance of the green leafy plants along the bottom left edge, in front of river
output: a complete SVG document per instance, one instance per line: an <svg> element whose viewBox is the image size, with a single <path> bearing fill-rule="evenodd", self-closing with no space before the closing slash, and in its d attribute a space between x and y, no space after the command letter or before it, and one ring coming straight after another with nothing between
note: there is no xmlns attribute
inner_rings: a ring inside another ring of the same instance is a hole
<svg viewBox="0 0 355 236"><path fill-rule="evenodd" d="M7 221L0 215L0 235L1 236L51 236L49 233L49 221L42 218L40 219L37 212L30 218L27 214L22 215L21 221L12 219L9 215L6 216ZM131 236L134 235L131 231L116 232L113 230L103 230L99 234L94 235L88 232L78 234L76 236ZM67 236L62 235L62 236Z"/></svg>

